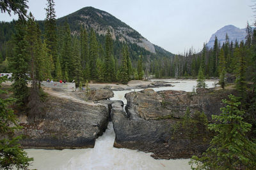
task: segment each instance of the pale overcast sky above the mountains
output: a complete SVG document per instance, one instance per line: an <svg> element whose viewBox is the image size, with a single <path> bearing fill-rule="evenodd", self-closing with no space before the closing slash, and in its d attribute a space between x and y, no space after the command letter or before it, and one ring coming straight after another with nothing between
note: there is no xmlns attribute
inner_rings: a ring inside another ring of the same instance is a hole
<svg viewBox="0 0 256 170"><path fill-rule="evenodd" d="M29 0L29 11L44 20L46 0ZM191 46L199 51L211 35L225 25L246 27L255 18L251 0L55 0L57 18L86 6L107 11L150 42L172 53ZM0 13L0 20L15 18Z"/></svg>

